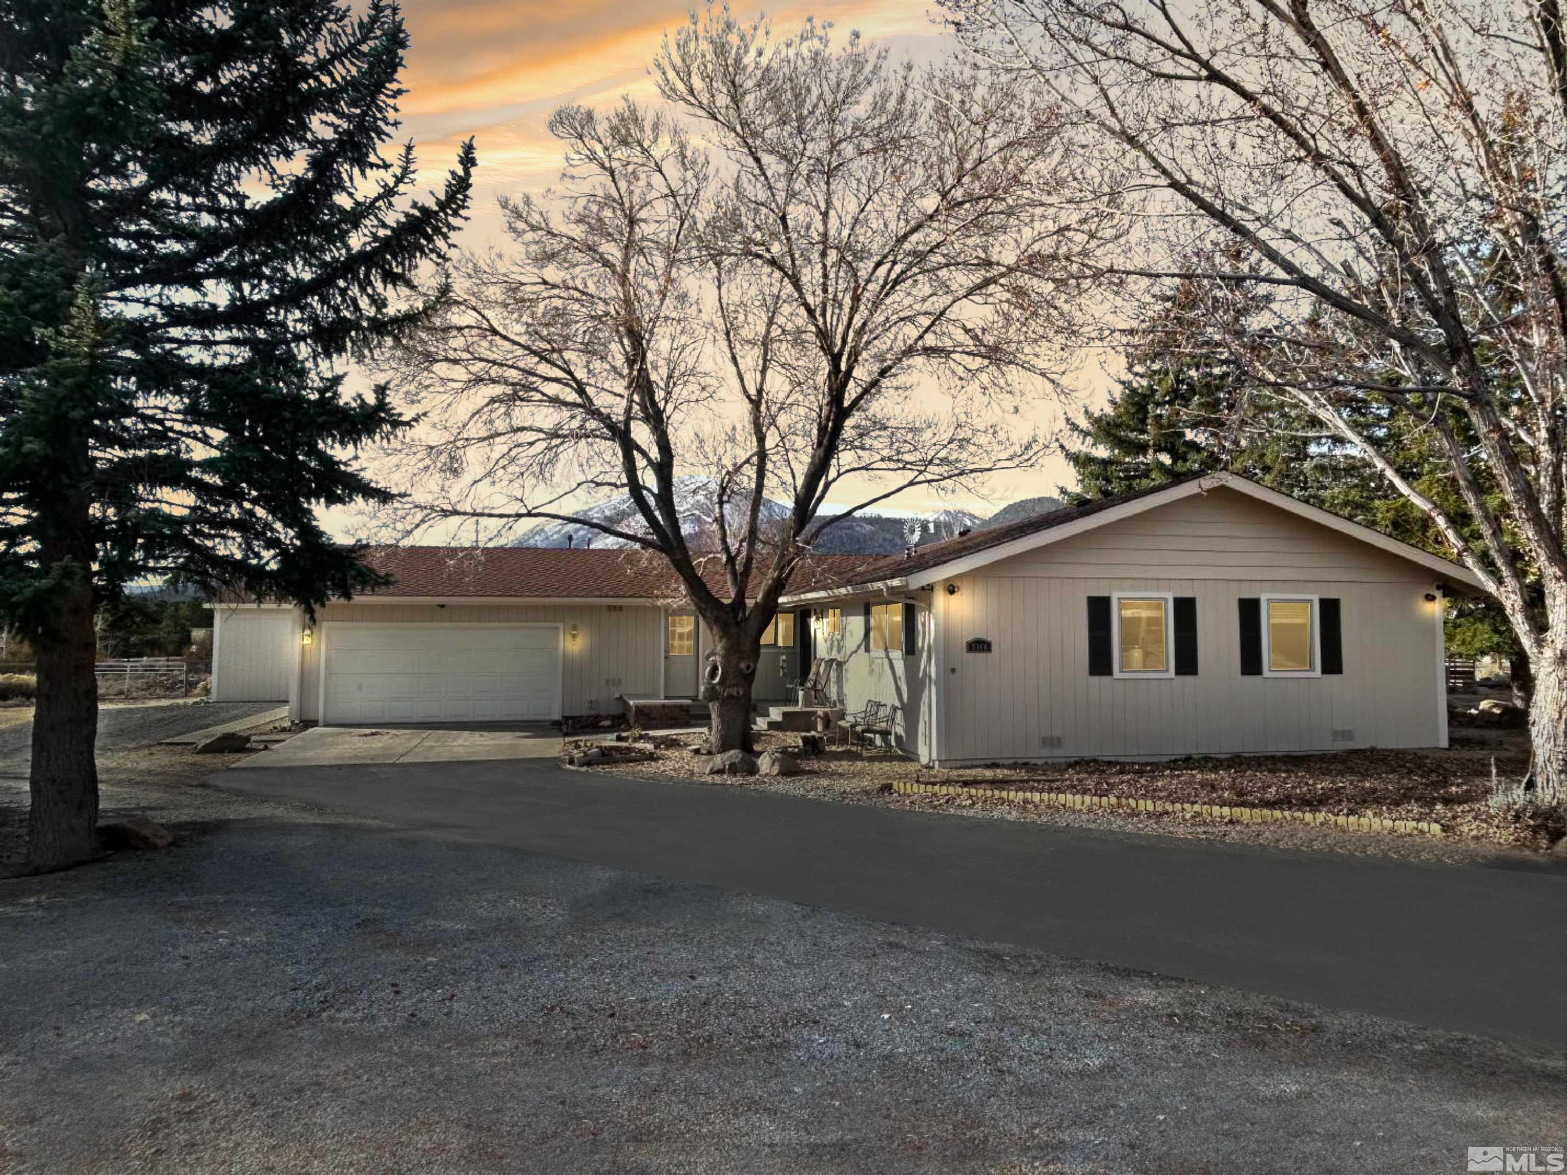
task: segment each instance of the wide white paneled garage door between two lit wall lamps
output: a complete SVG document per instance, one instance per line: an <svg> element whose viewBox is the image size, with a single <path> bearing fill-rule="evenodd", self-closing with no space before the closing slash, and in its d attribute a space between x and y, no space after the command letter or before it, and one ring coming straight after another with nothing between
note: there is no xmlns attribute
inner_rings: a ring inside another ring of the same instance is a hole
<svg viewBox="0 0 1567 1175"><path fill-rule="evenodd" d="M334 624L323 639L323 722L544 722L561 716L558 625Z"/></svg>

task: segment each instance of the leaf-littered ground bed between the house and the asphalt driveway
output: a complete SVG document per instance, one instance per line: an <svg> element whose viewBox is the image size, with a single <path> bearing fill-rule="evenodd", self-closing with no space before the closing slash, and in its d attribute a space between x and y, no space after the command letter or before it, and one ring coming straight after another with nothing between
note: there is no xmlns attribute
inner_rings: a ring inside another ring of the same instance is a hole
<svg viewBox="0 0 1567 1175"><path fill-rule="evenodd" d="M1446 750L1349 750L1332 755L1185 758L1163 763L1081 760L948 771L921 768L887 752L829 749L824 755L802 758L802 772L793 777L705 776L707 757L688 749L696 741L658 738L653 761L588 769L765 788L840 802L1420 860L1534 857L1567 832L1531 822L1509 805L1492 802L1492 771L1495 769L1496 783L1506 786L1528 766L1528 736L1520 730L1454 728ZM758 752L791 749L798 743L798 735L757 735ZM893 793L893 785L899 782L1420 819L1440 822L1443 835L1432 838L1305 824L1216 822L1177 813L1073 812L981 794L899 796Z"/></svg>

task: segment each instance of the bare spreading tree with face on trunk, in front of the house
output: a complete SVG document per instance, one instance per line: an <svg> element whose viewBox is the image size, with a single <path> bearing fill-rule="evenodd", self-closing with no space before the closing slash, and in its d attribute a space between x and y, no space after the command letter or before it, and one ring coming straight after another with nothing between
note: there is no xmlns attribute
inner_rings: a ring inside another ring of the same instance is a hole
<svg viewBox="0 0 1567 1175"><path fill-rule="evenodd" d="M495 540L559 519L661 553L715 638L724 750L751 741L762 633L832 520L1037 461L1015 409L1058 374L1098 215L1062 204L1069 157L1023 86L724 9L655 74L657 110L555 114L563 191L505 202L511 248L454 265L404 340L403 522ZM862 500L829 517L845 487ZM633 525L567 504L605 494Z"/></svg>

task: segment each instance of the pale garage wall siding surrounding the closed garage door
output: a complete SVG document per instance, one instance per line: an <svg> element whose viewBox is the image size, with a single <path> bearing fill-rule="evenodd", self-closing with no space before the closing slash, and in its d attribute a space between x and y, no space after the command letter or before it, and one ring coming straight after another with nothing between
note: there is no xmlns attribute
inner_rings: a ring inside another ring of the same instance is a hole
<svg viewBox="0 0 1567 1175"><path fill-rule="evenodd" d="M332 603L318 609L318 622L368 624L559 624L577 639L564 642L566 714L605 714L619 710L619 694L657 697L663 669L663 611L647 605L462 605L445 608L431 603ZM321 686L321 644L301 649L298 716L318 721Z"/></svg>

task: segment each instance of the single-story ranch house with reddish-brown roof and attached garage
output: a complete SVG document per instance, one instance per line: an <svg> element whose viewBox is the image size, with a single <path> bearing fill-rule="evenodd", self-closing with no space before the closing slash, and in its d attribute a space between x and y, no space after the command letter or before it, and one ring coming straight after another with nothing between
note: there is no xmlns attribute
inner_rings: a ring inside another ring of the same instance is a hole
<svg viewBox="0 0 1567 1175"><path fill-rule="evenodd" d="M387 548L392 588L218 605L213 697L329 724L527 721L694 697L668 569L606 550ZM1459 564L1221 473L929 544L807 559L757 699L820 661L923 763L1446 744Z"/></svg>

